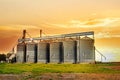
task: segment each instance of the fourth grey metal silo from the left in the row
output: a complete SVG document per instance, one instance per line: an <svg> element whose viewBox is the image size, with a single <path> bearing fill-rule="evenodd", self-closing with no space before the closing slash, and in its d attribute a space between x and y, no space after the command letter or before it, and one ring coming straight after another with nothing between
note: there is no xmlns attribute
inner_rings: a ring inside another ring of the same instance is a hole
<svg viewBox="0 0 120 80"><path fill-rule="evenodd" d="M62 42L50 43L50 63L61 63L62 58Z"/></svg>

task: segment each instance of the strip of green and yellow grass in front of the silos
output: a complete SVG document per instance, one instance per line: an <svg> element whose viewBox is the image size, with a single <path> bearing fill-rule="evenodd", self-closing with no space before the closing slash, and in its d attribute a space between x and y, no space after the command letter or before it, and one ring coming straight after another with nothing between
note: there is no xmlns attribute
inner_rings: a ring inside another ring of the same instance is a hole
<svg viewBox="0 0 120 80"><path fill-rule="evenodd" d="M119 64L0 64L0 74L41 73L120 73Z"/></svg>

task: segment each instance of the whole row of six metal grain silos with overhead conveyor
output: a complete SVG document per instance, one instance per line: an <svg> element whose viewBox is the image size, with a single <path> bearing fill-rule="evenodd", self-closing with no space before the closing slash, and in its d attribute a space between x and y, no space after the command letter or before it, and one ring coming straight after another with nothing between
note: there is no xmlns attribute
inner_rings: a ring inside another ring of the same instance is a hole
<svg viewBox="0 0 120 80"><path fill-rule="evenodd" d="M95 63L93 31L32 39L25 34L17 44L17 63Z"/></svg>

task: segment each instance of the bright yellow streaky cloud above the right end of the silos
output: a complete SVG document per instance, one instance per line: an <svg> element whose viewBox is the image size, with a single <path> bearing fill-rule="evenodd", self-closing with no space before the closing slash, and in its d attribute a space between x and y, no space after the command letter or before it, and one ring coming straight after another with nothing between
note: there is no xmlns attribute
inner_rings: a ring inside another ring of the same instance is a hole
<svg viewBox="0 0 120 80"><path fill-rule="evenodd" d="M50 24L61 28L96 28L114 27L119 25L120 18L89 19L86 21L71 20L67 24Z"/></svg>

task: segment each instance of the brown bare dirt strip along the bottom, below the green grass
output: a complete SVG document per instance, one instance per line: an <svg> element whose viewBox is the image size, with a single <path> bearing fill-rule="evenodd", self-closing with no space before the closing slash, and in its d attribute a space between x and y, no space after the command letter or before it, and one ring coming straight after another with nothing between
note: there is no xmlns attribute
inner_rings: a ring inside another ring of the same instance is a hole
<svg viewBox="0 0 120 80"><path fill-rule="evenodd" d="M120 80L120 74L45 73L39 76L2 74L0 80Z"/></svg>

